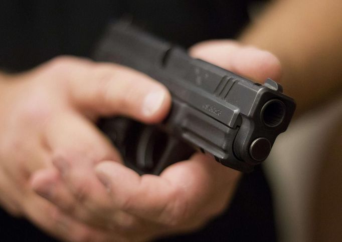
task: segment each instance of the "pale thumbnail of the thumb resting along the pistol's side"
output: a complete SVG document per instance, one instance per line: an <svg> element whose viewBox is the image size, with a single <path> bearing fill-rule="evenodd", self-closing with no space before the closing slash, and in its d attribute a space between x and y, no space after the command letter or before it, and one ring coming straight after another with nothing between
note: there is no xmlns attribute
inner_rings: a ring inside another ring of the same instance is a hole
<svg viewBox="0 0 342 242"><path fill-rule="evenodd" d="M164 90L158 90L153 91L149 93L143 102L142 106L142 113L145 116L151 116L153 115L163 103L165 98L165 91Z"/></svg>

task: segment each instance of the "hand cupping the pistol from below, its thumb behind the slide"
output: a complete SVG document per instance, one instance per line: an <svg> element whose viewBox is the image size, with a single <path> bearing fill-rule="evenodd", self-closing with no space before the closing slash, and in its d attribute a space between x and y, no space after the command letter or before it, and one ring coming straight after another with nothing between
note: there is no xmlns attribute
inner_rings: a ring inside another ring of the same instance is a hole
<svg viewBox="0 0 342 242"><path fill-rule="evenodd" d="M281 74L273 55L233 41L202 43L190 52L259 82L279 80ZM93 151L89 147L86 154ZM226 209L240 176L200 153L160 176L139 176L120 162L96 164L84 155L59 156L54 164L59 171L35 174L34 189L77 220L103 229L101 238L110 241L143 241L197 229Z"/></svg>

